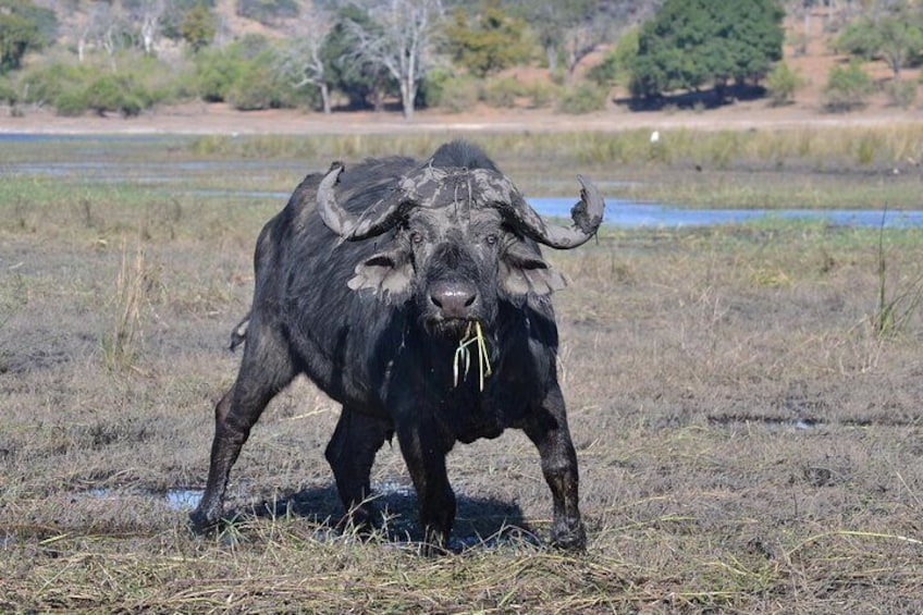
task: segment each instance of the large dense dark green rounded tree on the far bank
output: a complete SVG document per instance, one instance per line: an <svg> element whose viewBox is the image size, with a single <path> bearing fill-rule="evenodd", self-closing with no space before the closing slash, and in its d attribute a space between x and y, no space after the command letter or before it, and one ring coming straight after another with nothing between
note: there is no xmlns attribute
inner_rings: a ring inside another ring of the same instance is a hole
<svg viewBox="0 0 923 615"><path fill-rule="evenodd" d="M666 0L641 26L632 94L759 82L782 59L783 16L774 0Z"/></svg>

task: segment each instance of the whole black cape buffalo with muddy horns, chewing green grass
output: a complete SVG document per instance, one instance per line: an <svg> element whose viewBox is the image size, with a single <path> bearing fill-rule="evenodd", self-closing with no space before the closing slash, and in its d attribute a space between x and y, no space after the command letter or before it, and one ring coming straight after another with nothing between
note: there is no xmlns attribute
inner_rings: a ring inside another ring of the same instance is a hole
<svg viewBox="0 0 923 615"><path fill-rule="evenodd" d="M545 225L465 142L423 162L337 162L305 177L257 241L249 321L235 330L246 337L244 356L214 410L208 484L193 527L218 524L250 429L305 373L343 405L325 456L353 522L374 521L369 473L396 433L426 543L441 549L455 518L446 453L455 442L515 427L541 456L554 501L552 542L583 548L550 298L565 283L538 246L574 248L599 229L603 199L578 179L580 200L565 227ZM476 358L458 349L465 341L477 346Z"/></svg>

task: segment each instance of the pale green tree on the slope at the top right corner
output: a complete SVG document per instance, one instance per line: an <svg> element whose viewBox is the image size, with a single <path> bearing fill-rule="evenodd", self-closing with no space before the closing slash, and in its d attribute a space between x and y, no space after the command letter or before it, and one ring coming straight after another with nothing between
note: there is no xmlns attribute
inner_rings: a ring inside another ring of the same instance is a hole
<svg viewBox="0 0 923 615"><path fill-rule="evenodd" d="M923 12L901 4L878 16L862 16L837 37L836 48L866 60L881 58L895 79L923 49Z"/></svg>

